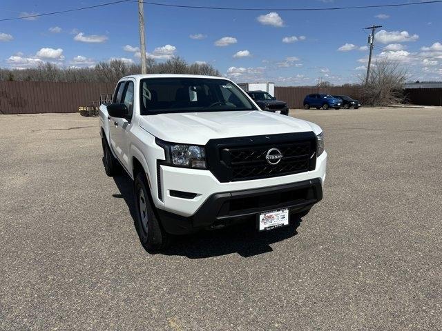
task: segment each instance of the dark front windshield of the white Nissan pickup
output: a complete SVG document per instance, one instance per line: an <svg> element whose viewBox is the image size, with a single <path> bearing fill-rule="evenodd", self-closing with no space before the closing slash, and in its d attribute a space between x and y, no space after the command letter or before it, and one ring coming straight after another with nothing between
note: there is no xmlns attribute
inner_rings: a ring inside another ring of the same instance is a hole
<svg viewBox="0 0 442 331"><path fill-rule="evenodd" d="M140 83L141 114L257 110L233 83L209 78L147 78Z"/></svg>

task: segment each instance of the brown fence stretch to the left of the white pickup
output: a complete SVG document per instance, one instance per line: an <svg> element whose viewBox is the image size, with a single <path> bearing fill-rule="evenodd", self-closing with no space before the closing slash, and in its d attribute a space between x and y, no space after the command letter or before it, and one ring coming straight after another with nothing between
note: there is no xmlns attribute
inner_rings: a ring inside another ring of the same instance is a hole
<svg viewBox="0 0 442 331"><path fill-rule="evenodd" d="M0 81L0 114L77 112L114 88L113 83Z"/></svg>

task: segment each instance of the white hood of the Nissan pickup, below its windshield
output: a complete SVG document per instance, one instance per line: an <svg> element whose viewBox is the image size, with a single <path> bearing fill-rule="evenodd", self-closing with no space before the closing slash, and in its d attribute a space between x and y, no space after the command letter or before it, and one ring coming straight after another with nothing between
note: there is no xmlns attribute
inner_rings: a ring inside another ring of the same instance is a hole
<svg viewBox="0 0 442 331"><path fill-rule="evenodd" d="M322 131L314 123L258 110L146 115L140 117L140 127L164 141L195 145L218 138Z"/></svg>

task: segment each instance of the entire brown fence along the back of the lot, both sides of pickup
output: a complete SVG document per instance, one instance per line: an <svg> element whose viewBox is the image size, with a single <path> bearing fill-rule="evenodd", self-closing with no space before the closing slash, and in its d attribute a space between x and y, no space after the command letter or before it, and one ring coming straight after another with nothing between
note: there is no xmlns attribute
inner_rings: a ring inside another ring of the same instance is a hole
<svg viewBox="0 0 442 331"><path fill-rule="evenodd" d="M43 81L0 81L0 114L77 112L79 106L92 106L100 94L112 94L114 83L55 83ZM364 102L357 87L281 87L275 97L290 108L302 108L307 94L348 95ZM416 105L442 106L442 88L405 90L407 101ZM96 103L95 103L96 104Z"/></svg>

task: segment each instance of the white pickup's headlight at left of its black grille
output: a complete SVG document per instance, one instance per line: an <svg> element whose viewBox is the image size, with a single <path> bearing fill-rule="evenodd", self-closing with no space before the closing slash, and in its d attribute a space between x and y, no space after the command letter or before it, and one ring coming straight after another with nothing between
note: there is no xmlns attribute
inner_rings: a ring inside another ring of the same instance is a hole
<svg viewBox="0 0 442 331"><path fill-rule="evenodd" d="M176 167L206 169L206 150L204 146L168 143L160 139L155 142L164 148L166 161L164 163Z"/></svg>

